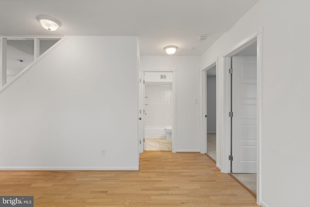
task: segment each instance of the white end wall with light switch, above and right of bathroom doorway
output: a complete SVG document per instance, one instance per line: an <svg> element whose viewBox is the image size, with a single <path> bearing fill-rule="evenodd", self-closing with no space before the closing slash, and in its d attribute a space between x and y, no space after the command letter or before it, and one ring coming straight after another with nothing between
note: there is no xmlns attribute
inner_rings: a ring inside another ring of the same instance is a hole
<svg viewBox="0 0 310 207"><path fill-rule="evenodd" d="M199 57L141 56L143 71L176 70L176 152L200 151Z"/></svg>

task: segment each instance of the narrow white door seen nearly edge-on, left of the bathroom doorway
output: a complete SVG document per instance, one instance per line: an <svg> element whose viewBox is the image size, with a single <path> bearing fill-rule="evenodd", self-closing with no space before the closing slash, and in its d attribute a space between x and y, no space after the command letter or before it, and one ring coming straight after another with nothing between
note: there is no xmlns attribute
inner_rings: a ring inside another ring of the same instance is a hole
<svg viewBox="0 0 310 207"><path fill-rule="evenodd" d="M143 124L143 72L142 71L138 71L139 72L139 109L138 109L138 131L139 131L139 140L138 140L138 144L139 144L139 152L143 152L144 150L144 124Z"/></svg>

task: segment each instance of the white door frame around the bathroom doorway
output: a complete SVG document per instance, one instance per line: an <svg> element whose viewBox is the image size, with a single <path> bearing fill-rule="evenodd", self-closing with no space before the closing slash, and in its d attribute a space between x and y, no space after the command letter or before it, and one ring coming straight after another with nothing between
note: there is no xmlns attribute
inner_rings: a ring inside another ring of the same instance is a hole
<svg viewBox="0 0 310 207"><path fill-rule="evenodd" d="M172 73L172 104L173 104L173 110L172 110L172 134L171 134L171 138L172 138L172 152L176 152L176 69L158 69L158 70L142 70L143 73L143 80L144 80L144 73L148 73L148 72L162 72L162 73ZM142 81L143 82L143 81ZM144 88L144 87L143 87ZM141 97L144 97L144 92L145 90L143 90ZM144 110L144 98L142 98L143 103L142 103L142 111ZM143 117L142 117L142 121L143 121L143 131L145 128L144 125L144 113L143 113ZM141 129L139 129L141 130ZM144 133L143 133L144 134ZM143 137L144 139L144 137ZM143 143L144 145L144 143ZM143 147L144 148L144 147ZM144 150L144 149L143 149Z"/></svg>

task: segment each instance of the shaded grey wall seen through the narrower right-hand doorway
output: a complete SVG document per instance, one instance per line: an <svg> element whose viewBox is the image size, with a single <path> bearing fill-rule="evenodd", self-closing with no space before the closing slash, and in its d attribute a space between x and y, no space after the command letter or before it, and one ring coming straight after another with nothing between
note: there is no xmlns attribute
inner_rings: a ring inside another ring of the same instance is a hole
<svg viewBox="0 0 310 207"><path fill-rule="evenodd" d="M217 77L207 76L207 132L217 131Z"/></svg>

